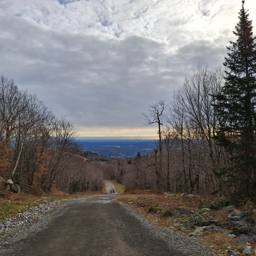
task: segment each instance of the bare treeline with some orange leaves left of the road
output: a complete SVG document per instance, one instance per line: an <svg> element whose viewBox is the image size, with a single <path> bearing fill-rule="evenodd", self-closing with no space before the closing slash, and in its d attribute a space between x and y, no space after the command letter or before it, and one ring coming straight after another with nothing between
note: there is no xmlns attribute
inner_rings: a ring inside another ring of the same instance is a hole
<svg viewBox="0 0 256 256"><path fill-rule="evenodd" d="M102 173L80 156L73 124L57 118L36 95L0 77L0 177L24 189L102 189Z"/></svg>

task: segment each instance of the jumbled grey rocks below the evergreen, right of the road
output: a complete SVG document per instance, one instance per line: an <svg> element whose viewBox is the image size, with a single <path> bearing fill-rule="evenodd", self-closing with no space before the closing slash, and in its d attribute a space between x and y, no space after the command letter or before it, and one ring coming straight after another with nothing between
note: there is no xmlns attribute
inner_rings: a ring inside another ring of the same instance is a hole
<svg viewBox="0 0 256 256"><path fill-rule="evenodd" d="M170 195L168 195L170 196ZM186 195L191 198L193 195ZM210 210L220 211L225 216L225 221L219 219L206 219L207 212ZM240 245L244 247L243 255L251 255L250 250L245 246L246 242L256 242L256 205L248 201L242 210L236 209L235 206L221 207L216 202L211 202L205 208L195 209L177 207L175 211L170 211L175 221L180 219L181 228L189 236L199 236L203 231L223 232L231 237L238 237ZM191 232L193 230L193 232ZM228 251L229 255L240 255L232 250Z"/></svg>

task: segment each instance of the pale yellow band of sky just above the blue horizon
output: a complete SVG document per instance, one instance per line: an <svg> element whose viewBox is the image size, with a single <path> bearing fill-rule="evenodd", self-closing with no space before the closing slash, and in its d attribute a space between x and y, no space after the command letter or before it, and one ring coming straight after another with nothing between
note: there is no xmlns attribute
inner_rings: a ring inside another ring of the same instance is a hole
<svg viewBox="0 0 256 256"><path fill-rule="evenodd" d="M76 127L79 137L129 137L157 139L157 127Z"/></svg>

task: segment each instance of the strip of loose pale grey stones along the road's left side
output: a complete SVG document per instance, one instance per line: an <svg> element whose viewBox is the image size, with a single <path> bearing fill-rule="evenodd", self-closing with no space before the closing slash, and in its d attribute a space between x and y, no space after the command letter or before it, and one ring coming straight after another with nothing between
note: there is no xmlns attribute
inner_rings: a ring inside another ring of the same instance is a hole
<svg viewBox="0 0 256 256"><path fill-rule="evenodd" d="M30 207L28 211L19 212L15 217L5 218L4 221L0 221L0 233L12 231L14 228L23 225L26 222L37 220L50 212L54 207L58 206L62 201L63 200L46 201L44 204Z"/></svg>

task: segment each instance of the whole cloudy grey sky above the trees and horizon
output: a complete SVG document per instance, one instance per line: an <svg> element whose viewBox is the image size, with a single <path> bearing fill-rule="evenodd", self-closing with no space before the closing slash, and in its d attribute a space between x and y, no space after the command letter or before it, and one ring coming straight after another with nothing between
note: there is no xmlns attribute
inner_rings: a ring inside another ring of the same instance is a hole
<svg viewBox="0 0 256 256"><path fill-rule="evenodd" d="M142 113L222 67L241 0L0 0L0 75L80 136L156 136ZM245 0L256 35L255 0Z"/></svg>

